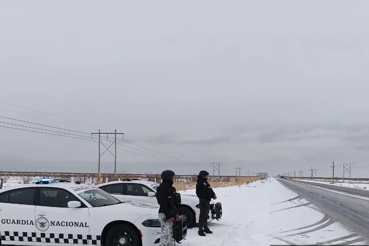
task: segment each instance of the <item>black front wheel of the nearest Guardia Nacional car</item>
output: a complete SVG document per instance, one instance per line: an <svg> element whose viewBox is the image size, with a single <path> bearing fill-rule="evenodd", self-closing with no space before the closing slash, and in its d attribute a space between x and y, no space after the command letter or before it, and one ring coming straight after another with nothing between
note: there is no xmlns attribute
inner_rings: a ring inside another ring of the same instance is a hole
<svg viewBox="0 0 369 246"><path fill-rule="evenodd" d="M116 225L106 234L105 246L139 246L141 240L137 229L130 225Z"/></svg>

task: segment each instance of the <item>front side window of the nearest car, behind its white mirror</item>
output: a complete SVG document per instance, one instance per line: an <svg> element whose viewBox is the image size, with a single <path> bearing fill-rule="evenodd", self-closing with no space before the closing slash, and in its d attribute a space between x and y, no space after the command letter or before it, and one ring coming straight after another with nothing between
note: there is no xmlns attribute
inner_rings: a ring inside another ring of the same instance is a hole
<svg viewBox="0 0 369 246"><path fill-rule="evenodd" d="M79 201L75 196L68 191L56 188L41 188L40 189L40 205L55 207L55 208L68 208L68 202Z"/></svg>

